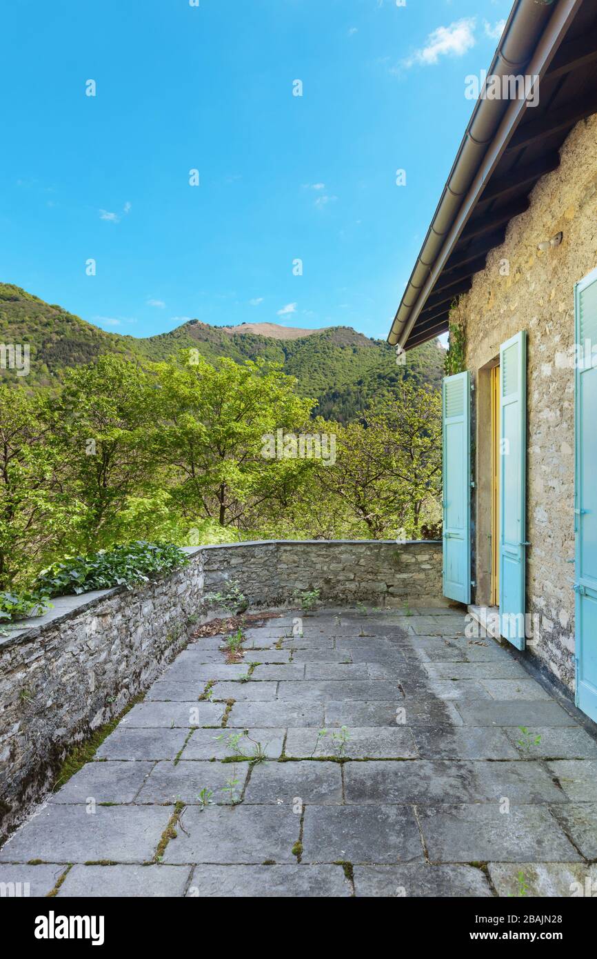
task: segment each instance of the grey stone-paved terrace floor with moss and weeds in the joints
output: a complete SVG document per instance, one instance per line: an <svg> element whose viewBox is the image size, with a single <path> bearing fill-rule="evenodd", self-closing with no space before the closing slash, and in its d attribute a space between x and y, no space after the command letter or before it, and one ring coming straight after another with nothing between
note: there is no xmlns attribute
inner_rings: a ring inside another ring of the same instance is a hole
<svg viewBox="0 0 597 959"><path fill-rule="evenodd" d="M597 743L509 649L448 607L303 614L300 635L294 615L248 629L241 664L221 637L191 643L0 850L0 882L58 898L597 888ZM243 758L257 743L266 759Z"/></svg>

